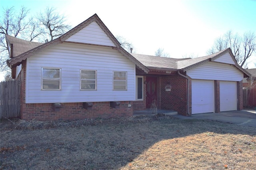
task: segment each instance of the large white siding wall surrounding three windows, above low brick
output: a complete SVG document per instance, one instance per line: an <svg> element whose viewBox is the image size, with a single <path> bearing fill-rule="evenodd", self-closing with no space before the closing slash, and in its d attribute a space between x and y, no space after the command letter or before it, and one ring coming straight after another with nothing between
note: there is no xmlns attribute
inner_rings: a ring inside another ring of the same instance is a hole
<svg viewBox="0 0 256 170"><path fill-rule="evenodd" d="M61 68L61 90L41 90L41 68ZM97 70L97 90L80 90L80 70ZM113 71L127 72L127 90L113 91ZM26 103L135 100L135 64L111 47L62 43L27 59Z"/></svg>

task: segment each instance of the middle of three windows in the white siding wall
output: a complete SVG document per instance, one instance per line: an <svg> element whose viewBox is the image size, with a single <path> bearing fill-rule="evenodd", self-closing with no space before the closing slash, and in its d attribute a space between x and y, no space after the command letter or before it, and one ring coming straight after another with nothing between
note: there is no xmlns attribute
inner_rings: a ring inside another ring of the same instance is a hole
<svg viewBox="0 0 256 170"><path fill-rule="evenodd" d="M80 70L80 90L97 90L96 70Z"/></svg>

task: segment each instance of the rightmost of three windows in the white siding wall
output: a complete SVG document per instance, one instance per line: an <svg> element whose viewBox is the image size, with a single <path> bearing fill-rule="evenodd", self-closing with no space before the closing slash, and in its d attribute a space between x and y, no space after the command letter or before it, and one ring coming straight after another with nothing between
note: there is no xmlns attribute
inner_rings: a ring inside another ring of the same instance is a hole
<svg viewBox="0 0 256 170"><path fill-rule="evenodd" d="M127 72L113 72L113 90L127 90Z"/></svg>

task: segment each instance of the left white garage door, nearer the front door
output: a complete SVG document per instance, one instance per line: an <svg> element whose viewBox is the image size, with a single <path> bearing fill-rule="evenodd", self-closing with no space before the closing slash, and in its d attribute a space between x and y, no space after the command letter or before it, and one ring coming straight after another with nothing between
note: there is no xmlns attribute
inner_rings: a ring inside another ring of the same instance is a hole
<svg viewBox="0 0 256 170"><path fill-rule="evenodd" d="M214 112L214 82L192 80L192 114Z"/></svg>

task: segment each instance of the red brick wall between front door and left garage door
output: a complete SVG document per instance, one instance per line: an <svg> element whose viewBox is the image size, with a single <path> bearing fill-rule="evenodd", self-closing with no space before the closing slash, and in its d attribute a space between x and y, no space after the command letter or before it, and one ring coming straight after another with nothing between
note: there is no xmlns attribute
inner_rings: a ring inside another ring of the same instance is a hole
<svg viewBox="0 0 256 170"><path fill-rule="evenodd" d="M160 77L158 84L159 108L178 111L179 114L186 115L187 79L180 75ZM170 92L165 91L166 86L171 86Z"/></svg>

